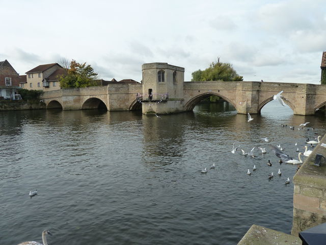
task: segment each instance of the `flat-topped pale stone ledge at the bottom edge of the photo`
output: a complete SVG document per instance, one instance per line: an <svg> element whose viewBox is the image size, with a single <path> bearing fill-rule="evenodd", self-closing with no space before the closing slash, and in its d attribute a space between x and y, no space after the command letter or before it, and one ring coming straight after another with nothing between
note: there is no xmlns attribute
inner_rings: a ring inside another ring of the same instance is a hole
<svg viewBox="0 0 326 245"><path fill-rule="evenodd" d="M238 245L288 245L302 244L300 238L283 232L268 229L262 226L252 225L247 233L239 241Z"/></svg>

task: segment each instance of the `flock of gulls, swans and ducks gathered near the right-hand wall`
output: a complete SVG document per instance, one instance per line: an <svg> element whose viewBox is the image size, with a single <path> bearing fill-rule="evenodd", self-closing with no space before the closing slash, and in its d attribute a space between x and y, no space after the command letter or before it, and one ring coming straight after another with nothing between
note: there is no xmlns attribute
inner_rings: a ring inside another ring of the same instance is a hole
<svg viewBox="0 0 326 245"><path fill-rule="evenodd" d="M285 103L284 103L284 101L282 100L282 97L283 97L283 96L281 95L282 92L283 92L283 91L281 91L281 92L279 92L278 94L274 95L274 100L279 101L280 104L281 104L282 106L285 106ZM247 120L247 121L250 122L250 121L252 121L253 119L254 119L254 118L252 118L252 116L248 113L248 120ZM297 129L298 129L298 130L304 130L304 129L306 128L306 126L307 126L309 123L310 123L310 122L305 122L304 124L300 124L300 125L298 126ZM284 124L281 124L281 126L282 126L282 127L287 127L287 125L284 125ZM294 126L291 126L290 129L291 129L291 130L294 130ZM313 130L314 128L311 127L311 129ZM310 130L310 129L307 129L307 130ZM309 138L308 138L308 139L306 140L306 143L307 143L307 144L310 144L310 146L313 148L313 147L314 147L313 144L318 144L318 143L320 142L320 138L321 138L320 135L319 135L316 139L314 139L314 140L309 140ZM269 142L269 139L268 139L267 137L265 137L265 138L261 138L261 140L263 140L264 142ZM322 145L323 147L326 148L326 144L322 143L321 145ZM295 143L294 146L297 146L297 143ZM236 146L235 143L233 143L231 153L235 154L239 148L240 148L240 144ZM273 152L273 153L274 153L278 158L280 158L280 160L279 160L279 163L280 163L280 164L282 164L283 162L284 162L284 163L289 163L289 164L301 164L301 163L303 163L303 159L301 158L301 156L304 155L304 156L308 157L308 156L312 153L312 150L308 150L308 146L307 146L307 145L303 146L303 149L305 149L305 151L304 151L303 153L300 152L300 151L299 151L299 148L297 147L297 148L296 148L296 152L298 152L298 160L297 160L297 159L293 159L293 158L290 157L289 155L283 153L284 148L282 148L281 144L278 144L278 145L274 146L274 145L272 145L272 144L269 143L269 144L268 144L268 148L269 148L269 150L270 150L271 152ZM259 151L261 152L261 154L265 154L265 153L267 153L267 151L268 151L268 150L266 150L266 148L263 148L263 147L260 147L260 146L254 146L254 147L252 148L252 150L249 151L249 152L246 152L246 151L244 151L243 149L240 149L240 150L241 150L241 155L243 155L243 156L250 156L250 157L252 157L252 158L256 158L257 155L255 155L255 153L254 153L254 152L255 152L255 149L259 149ZM270 160L268 160L268 162L267 162L267 166L272 166L272 163L270 162ZM298 165L297 170L300 168L300 166L301 166L301 165ZM211 166L210 168L215 168L215 164L213 164L213 166ZM252 171L256 171L256 170L257 170L257 167L256 167L256 165L254 165L253 168L252 168ZM207 168L204 168L204 169L201 170L201 173L202 173L202 174L206 174L207 171L208 171ZM253 173L250 171L250 169L248 169L247 174L248 174L249 176L253 175ZM281 173L281 169L280 169L280 168L278 169L278 175L279 175L279 176L282 175L282 173ZM270 174L268 175L268 179L269 179L269 180L272 179L272 178L274 178L274 173L270 173ZM289 184L290 182L291 182L291 181L290 181L290 178L287 178L287 180L285 181L285 184L287 185L287 184Z"/></svg>

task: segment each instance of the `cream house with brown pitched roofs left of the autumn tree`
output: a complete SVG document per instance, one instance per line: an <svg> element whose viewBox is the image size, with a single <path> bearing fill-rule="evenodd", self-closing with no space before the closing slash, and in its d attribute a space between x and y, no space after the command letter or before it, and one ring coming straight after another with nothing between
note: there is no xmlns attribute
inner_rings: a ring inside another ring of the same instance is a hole
<svg viewBox="0 0 326 245"><path fill-rule="evenodd" d="M26 83L21 86L29 90L52 91L61 89L59 77L67 74L67 71L58 63L51 63L36 66L25 73Z"/></svg>

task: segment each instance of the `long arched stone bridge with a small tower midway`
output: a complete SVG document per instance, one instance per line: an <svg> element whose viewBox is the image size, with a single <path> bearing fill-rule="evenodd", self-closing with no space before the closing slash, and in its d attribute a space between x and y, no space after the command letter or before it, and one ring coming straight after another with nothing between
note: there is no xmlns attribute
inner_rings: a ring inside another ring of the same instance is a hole
<svg viewBox="0 0 326 245"><path fill-rule="evenodd" d="M274 94L283 90L283 101L294 114L312 115L326 105L326 85L277 82L184 82L184 68L168 63L143 64L142 84L108 84L44 92L47 109L108 111L140 110L144 114L192 111L205 97L218 95L238 113L260 113ZM159 75L159 76L158 76ZM140 95L138 97L137 95Z"/></svg>

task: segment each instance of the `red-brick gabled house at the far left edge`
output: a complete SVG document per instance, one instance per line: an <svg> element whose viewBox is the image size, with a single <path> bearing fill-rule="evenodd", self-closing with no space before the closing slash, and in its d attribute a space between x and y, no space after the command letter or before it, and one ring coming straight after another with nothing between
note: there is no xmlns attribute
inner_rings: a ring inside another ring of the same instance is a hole
<svg viewBox="0 0 326 245"><path fill-rule="evenodd" d="M15 100L18 89L19 74L8 60L0 61L0 99Z"/></svg>

